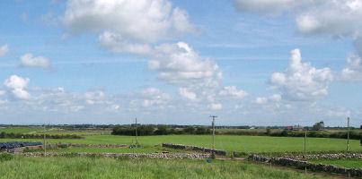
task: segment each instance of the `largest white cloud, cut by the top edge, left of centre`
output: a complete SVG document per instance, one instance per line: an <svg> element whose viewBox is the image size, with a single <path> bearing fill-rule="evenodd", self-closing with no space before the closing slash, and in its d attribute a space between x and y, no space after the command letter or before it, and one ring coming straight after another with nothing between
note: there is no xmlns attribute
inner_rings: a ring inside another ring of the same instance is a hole
<svg viewBox="0 0 362 179"><path fill-rule="evenodd" d="M131 52L139 44L155 43L196 32L188 13L168 0L69 0L62 18L73 35L107 32L99 41L110 51ZM133 47L127 47L127 45Z"/></svg>

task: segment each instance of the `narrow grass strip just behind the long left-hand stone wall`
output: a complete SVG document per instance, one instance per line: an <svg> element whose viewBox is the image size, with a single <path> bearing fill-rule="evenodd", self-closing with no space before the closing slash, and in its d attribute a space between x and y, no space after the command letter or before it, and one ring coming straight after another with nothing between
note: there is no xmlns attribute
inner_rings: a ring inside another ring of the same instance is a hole
<svg viewBox="0 0 362 179"><path fill-rule="evenodd" d="M49 152L89 152L89 153L195 153L190 150L165 149L161 147L142 147L142 148L66 148L66 149L49 149Z"/></svg>

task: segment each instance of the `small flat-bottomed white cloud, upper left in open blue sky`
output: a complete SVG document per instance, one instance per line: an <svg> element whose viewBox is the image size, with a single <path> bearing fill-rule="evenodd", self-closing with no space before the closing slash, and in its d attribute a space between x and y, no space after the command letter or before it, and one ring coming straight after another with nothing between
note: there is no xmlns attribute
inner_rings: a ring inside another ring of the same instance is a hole
<svg viewBox="0 0 362 179"><path fill-rule="evenodd" d="M31 53L22 55L20 57L19 65L22 67L40 67L49 69L49 59L44 56L33 56Z"/></svg>

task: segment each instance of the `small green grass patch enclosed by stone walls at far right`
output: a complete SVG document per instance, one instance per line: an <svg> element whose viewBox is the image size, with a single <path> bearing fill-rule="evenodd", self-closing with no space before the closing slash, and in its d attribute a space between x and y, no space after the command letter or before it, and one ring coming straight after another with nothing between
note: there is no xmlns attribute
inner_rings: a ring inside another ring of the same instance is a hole
<svg viewBox="0 0 362 179"><path fill-rule="evenodd" d="M362 159L357 158L311 159L308 161L315 164L328 164L347 168L362 168Z"/></svg>

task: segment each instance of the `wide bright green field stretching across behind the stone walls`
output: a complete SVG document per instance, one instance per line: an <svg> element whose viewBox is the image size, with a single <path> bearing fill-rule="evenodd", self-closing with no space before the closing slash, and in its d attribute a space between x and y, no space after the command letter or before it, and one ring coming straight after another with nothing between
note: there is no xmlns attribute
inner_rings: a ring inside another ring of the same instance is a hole
<svg viewBox="0 0 362 179"><path fill-rule="evenodd" d="M42 141L42 140L22 140L22 139L0 139L0 141ZM135 141L131 136L115 135L94 135L85 136L84 139L76 140L48 140L50 143L79 143L79 144L131 144ZM177 143L195 145L199 147L212 147L211 135L161 135L138 137L141 145L152 147L164 143ZM296 137L268 137L268 136L237 136L218 135L216 136L216 149L227 151L244 152L285 152L303 151L304 138ZM345 150L346 140L330 138L308 138L307 151L331 151ZM362 148L358 140L350 141L350 149L361 151Z"/></svg>

